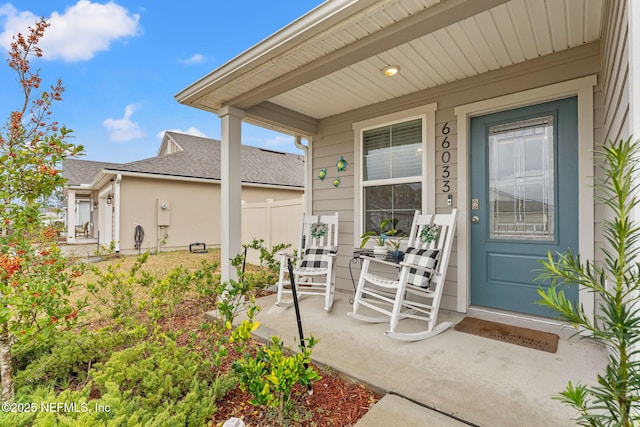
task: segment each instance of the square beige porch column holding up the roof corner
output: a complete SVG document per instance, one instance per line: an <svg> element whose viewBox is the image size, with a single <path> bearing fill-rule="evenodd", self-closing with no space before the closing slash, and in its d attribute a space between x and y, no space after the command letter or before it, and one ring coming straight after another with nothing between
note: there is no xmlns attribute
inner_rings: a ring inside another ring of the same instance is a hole
<svg viewBox="0 0 640 427"><path fill-rule="evenodd" d="M222 120L220 263L222 282L237 279L230 259L242 249L242 197L240 154L244 111L225 106L218 112Z"/></svg>

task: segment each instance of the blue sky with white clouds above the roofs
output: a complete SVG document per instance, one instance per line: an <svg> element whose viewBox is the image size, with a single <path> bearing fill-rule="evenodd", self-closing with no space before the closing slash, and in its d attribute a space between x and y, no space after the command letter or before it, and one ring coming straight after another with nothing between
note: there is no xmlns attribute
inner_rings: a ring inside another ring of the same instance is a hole
<svg viewBox="0 0 640 427"><path fill-rule="evenodd" d="M212 113L174 95L312 10L321 0L0 0L0 119L22 101L7 63L11 37L40 16L51 27L34 61L43 82L62 78L54 119L74 130L84 159L129 162L156 155L165 130L220 138ZM243 143L298 152L293 137L243 126Z"/></svg>

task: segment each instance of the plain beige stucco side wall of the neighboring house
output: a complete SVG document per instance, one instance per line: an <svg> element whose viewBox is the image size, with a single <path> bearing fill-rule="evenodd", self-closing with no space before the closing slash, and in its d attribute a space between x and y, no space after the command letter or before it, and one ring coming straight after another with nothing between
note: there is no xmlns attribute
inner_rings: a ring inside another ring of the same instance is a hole
<svg viewBox="0 0 640 427"><path fill-rule="evenodd" d="M190 243L220 245L220 185L206 182L124 176L121 183L120 251L134 251L134 232L145 232L142 250L184 249ZM251 201L299 198L300 191L243 187ZM158 226L158 200L168 202L169 226ZM248 201L247 200L247 201ZM165 237L166 235L166 237Z"/></svg>

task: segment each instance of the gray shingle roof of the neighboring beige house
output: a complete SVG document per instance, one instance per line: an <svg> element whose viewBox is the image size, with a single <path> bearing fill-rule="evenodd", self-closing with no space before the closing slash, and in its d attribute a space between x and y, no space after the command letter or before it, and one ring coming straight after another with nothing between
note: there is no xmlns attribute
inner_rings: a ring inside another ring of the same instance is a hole
<svg viewBox="0 0 640 427"><path fill-rule="evenodd" d="M88 162L86 160L67 160L64 163L63 174L70 179L69 183L78 185L90 183L101 169L113 172L138 172L156 175L180 176L190 178L217 179L221 177L221 143L215 139L202 138L177 132L167 132L181 148L170 154L162 154L135 162L117 164ZM242 146L241 179L245 183L285 185L304 187L304 158L302 155L281 153L264 150L257 147ZM68 163L71 162L71 163ZM96 165L78 165L79 162L94 163ZM97 167L100 163L105 165ZM91 179L75 182L71 177L81 175L86 179L90 169L95 167Z"/></svg>

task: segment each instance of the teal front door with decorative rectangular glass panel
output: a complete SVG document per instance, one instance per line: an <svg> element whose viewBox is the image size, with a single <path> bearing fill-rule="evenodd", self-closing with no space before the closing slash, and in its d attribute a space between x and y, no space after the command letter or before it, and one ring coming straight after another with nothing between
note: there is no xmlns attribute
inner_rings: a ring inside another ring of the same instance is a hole
<svg viewBox="0 0 640 427"><path fill-rule="evenodd" d="M471 119L472 305L555 317L535 278L548 251L578 249L577 117L568 98Z"/></svg>

